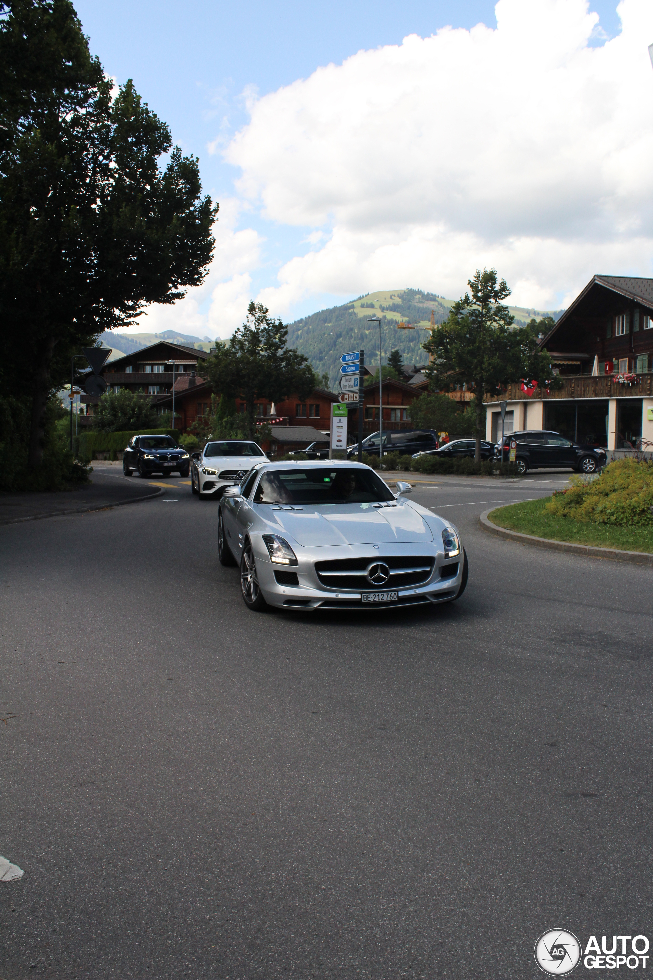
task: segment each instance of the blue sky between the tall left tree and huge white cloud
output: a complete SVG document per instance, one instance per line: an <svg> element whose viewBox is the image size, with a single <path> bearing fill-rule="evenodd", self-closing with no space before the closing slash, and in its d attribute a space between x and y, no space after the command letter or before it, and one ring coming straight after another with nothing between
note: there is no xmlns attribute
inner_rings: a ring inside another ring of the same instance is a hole
<svg viewBox="0 0 653 980"><path fill-rule="evenodd" d="M548 3L555 5L555 0L548 0ZM238 157L235 151L230 153L232 162L227 162L223 152L229 148L235 134L245 128L250 137L248 152L252 153L253 142L257 139L256 126L253 128L251 124L253 103L258 102L260 106L259 100L263 96L287 89L299 79L308 79L320 66L330 63L340 66L357 52L401 45L402 39L409 34L428 38L445 25L468 31L479 23L496 28L494 5L478 0L401 4L366 0L353 3L337 0L328 4L227 4L208 0L186 0L183 4L161 0L155 4L149 0L114 0L107 4L98 0L77 0L75 8L89 36L91 51L100 57L105 71L116 76L118 82L124 82L128 77L134 79L142 97L169 124L174 142L181 145L184 152L200 158L203 183L211 197L220 202L232 202L232 231L247 231L250 237L241 236L240 247L245 249L248 242L252 246L250 267L245 270L243 265L237 273L241 279L246 276L241 286L245 283L246 291L252 297L261 295L264 299L276 300L284 319L294 319L322 306L344 302L358 292L372 291L374 275L370 278L370 274L361 272L356 286L355 275L347 281L341 277L341 282L337 276L325 273L321 278L315 275L310 281L303 281L302 286L284 287L283 293L278 291L279 270L294 260L305 259L307 253L323 248L327 241L331 241L332 249L336 248L338 229L342 230L344 224L329 217L338 210L337 203L333 202L328 216L325 212L317 218L308 215L305 219L300 216L286 221L283 208L265 206L266 190L260 186L259 176L256 177L256 192L244 191L243 186L235 182L244 173L247 175L248 168L254 173L256 164L252 163L251 155L245 163L239 161L240 166L234 163ZM586 41L587 46L600 47L606 39L619 35L621 22L616 3L601 0L590 3L588 9L595 11L600 20ZM647 43L651 40L653 36L646 38ZM520 43L523 47L523 38ZM510 62L509 58L506 72L510 71ZM356 97L354 92L351 97ZM259 118L262 111L259 108ZM258 133L263 155L273 157L273 130L270 132L264 125L259 125ZM333 138L343 139L337 127ZM449 138L443 132L443 148ZM315 144L316 172L322 166L323 149L323 145ZM348 152L344 142L342 153L347 157ZM372 160L376 153L385 152L375 141L371 143ZM391 154L393 152L391 146ZM310 154L307 159L310 161ZM273 190L269 190L268 197L270 195L274 196ZM406 226L401 233L407 240L412 232ZM470 254L470 274L474 260L475 256ZM245 259L243 263L246 263ZM381 267L376 274L381 277ZM383 271L383 274L388 273ZM403 281L406 278L404 267L397 273L396 281L378 281L376 288L414 285L448 292L458 279L464 288L465 276L462 275L457 278L453 273L448 278L444 275L441 288L438 288L438 281L426 282L422 276L423 273L416 269L413 281ZM214 277L219 279L219 270L214 270ZM551 300L559 301L567 285L561 282ZM549 287L542 288L543 292L542 289L534 291L533 305L546 294L546 288L551 292ZM216 302L211 295L207 290L202 295L198 293L193 317L188 322L193 320L199 324L203 317L206 319L211 303ZM226 296L227 293L219 295ZM233 289L230 295L233 299ZM241 289L241 301L242 295ZM229 332L234 316L232 314L231 319L227 317L224 322L213 317L206 329L210 334L215 329L222 334Z"/></svg>

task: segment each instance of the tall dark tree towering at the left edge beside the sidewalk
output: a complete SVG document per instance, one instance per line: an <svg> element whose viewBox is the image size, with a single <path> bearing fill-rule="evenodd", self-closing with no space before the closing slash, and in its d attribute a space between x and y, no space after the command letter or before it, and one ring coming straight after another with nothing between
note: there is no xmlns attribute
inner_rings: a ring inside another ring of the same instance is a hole
<svg viewBox="0 0 653 980"><path fill-rule="evenodd" d="M115 96L70 0L0 0L2 380L16 391L28 366L30 466L71 355L202 282L217 207L201 190L132 82Z"/></svg>

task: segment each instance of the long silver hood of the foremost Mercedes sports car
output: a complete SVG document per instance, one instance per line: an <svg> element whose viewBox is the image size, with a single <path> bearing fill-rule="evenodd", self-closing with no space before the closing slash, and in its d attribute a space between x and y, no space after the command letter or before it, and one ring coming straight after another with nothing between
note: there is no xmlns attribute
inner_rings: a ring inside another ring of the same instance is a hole
<svg viewBox="0 0 653 980"><path fill-rule="evenodd" d="M277 510L270 505L258 507L277 533L285 531L304 548L433 541L422 515L406 503L383 508L370 504L304 505L295 511Z"/></svg>

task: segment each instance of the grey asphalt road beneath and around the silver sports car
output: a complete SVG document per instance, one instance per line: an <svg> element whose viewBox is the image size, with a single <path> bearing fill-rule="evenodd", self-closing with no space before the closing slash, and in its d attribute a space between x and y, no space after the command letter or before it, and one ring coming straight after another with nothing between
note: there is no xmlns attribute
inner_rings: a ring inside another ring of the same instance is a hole
<svg viewBox="0 0 653 980"><path fill-rule="evenodd" d="M470 577L417 612L249 613L176 477L0 527L0 977L521 980L547 928L653 940L650 569L478 525L565 480L419 486Z"/></svg>

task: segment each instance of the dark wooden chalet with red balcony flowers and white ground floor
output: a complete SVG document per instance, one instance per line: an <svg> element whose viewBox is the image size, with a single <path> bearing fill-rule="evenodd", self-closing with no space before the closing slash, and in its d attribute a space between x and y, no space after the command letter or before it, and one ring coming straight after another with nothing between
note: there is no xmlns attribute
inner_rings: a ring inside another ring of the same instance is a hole
<svg viewBox="0 0 653 980"><path fill-rule="evenodd" d="M653 279L594 275L542 347L563 387L509 385L506 432L548 429L613 452L653 451ZM492 442L499 401L486 402Z"/></svg>

